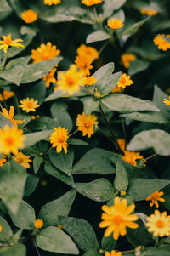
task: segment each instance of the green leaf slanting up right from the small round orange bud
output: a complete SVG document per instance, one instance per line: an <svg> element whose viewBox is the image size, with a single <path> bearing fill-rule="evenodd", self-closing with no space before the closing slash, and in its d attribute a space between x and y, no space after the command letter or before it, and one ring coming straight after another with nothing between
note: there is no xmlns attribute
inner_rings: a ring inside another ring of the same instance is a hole
<svg viewBox="0 0 170 256"><path fill-rule="evenodd" d="M38 214L43 219L44 225L60 225L58 216L67 216L77 195L76 190L71 190L51 202L46 203Z"/></svg>

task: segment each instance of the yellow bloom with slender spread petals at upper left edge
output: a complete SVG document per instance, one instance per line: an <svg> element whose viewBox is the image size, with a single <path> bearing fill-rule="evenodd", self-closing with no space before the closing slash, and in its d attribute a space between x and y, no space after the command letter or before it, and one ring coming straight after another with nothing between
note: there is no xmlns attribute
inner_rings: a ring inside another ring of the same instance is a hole
<svg viewBox="0 0 170 256"><path fill-rule="evenodd" d="M0 50L3 49L4 53L7 54L7 50L9 46L14 46L17 48L24 47L23 44L19 42L23 42L22 39L11 39L11 34L9 34L7 37L2 36L3 40L0 40Z"/></svg>

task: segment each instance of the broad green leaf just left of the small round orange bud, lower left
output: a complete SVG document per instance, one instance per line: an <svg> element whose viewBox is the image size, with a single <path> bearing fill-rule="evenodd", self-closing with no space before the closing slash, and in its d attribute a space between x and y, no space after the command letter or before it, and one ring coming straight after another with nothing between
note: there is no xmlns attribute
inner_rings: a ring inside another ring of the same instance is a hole
<svg viewBox="0 0 170 256"><path fill-rule="evenodd" d="M11 211L8 211L8 213L14 225L21 229L31 230L36 221L34 209L25 201L20 203L20 208L17 214L12 213Z"/></svg>

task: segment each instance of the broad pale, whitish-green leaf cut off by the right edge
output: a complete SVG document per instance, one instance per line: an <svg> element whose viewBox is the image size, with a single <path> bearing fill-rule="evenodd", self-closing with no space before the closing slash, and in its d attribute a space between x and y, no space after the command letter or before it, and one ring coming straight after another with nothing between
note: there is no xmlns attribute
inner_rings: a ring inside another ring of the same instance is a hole
<svg viewBox="0 0 170 256"><path fill-rule="evenodd" d="M170 155L170 134L164 130L150 129L136 134L127 145L128 151L142 151L153 148L158 155Z"/></svg>

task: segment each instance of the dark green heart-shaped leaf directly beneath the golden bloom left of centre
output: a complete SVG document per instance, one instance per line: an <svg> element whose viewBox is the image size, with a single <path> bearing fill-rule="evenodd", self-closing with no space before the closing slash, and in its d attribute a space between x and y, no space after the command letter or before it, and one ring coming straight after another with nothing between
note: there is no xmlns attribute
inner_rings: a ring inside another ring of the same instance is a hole
<svg viewBox="0 0 170 256"><path fill-rule="evenodd" d="M74 151L70 148L65 154L64 151L57 153L55 149L49 151L49 159L54 164L56 168L59 168L60 171L71 176L72 164L74 160Z"/></svg>

